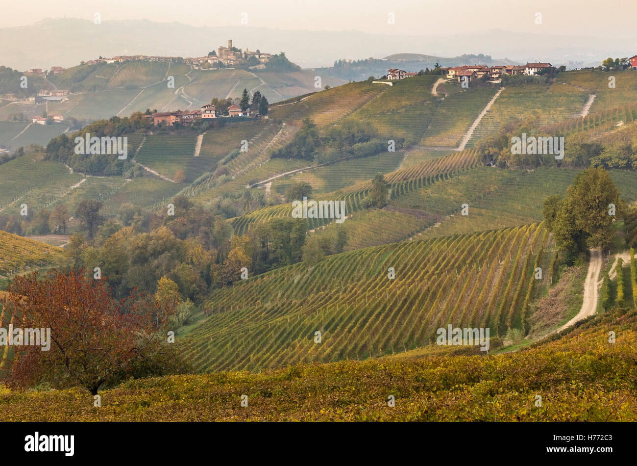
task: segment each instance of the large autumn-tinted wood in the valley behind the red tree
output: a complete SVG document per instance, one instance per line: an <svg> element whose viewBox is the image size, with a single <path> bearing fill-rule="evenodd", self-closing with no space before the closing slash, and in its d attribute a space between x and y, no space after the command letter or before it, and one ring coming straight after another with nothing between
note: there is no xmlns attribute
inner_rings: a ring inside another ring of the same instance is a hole
<svg viewBox="0 0 637 466"><path fill-rule="evenodd" d="M303 259L304 219L255 224L248 235L237 237L222 215L183 196L173 203L174 215L160 216L125 204L117 217L107 220L99 213L101 202L82 201L76 218L85 234L71 236L62 268L99 267L117 297L134 289L155 293L159 280L166 277L175 282L181 300L198 305L213 289L240 280L243 268L252 276ZM323 252L341 252L346 242L342 233L323 239Z"/></svg>

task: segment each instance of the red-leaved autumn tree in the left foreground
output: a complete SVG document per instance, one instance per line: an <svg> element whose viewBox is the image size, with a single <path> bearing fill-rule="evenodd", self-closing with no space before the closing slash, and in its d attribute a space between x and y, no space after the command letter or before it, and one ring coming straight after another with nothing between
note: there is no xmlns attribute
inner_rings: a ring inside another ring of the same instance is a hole
<svg viewBox="0 0 637 466"><path fill-rule="evenodd" d="M166 337L174 309L152 296L115 300L105 280L87 277L85 270L15 277L7 291L3 305L14 328L51 329L48 351L15 347L11 386L79 385L96 395L103 384L185 370Z"/></svg>

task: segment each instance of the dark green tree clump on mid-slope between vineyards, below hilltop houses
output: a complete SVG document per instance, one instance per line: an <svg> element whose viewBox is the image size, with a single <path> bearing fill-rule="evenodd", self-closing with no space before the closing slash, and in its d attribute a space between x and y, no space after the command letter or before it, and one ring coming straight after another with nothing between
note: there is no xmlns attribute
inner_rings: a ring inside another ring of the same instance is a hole
<svg viewBox="0 0 637 466"><path fill-rule="evenodd" d="M403 139L396 140L395 149L402 149L403 143ZM320 135L313 120L306 118L292 142L276 150L272 157L326 163L343 157L372 156L383 150L387 150L387 141L376 137L369 122L345 120Z"/></svg>

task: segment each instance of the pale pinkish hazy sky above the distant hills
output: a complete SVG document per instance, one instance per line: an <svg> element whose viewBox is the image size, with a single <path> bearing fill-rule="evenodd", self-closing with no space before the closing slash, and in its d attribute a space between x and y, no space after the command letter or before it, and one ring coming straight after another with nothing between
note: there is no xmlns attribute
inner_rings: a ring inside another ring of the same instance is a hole
<svg viewBox="0 0 637 466"><path fill-rule="evenodd" d="M0 27L43 18L148 19L196 26L431 35L505 29L604 37L634 35L637 0L0 0ZM387 24L389 13L396 24ZM541 13L542 24L535 24Z"/></svg>

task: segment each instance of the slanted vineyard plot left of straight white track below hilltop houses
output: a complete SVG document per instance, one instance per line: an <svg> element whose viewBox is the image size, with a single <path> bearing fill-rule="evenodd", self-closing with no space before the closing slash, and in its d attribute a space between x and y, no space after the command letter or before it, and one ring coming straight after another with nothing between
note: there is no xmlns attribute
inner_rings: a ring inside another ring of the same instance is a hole
<svg viewBox="0 0 637 466"><path fill-rule="evenodd" d="M495 88L476 87L447 96L427 126L420 144L458 147L464 133L496 92Z"/></svg>

